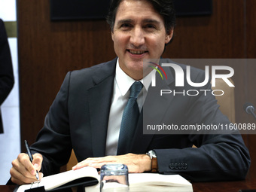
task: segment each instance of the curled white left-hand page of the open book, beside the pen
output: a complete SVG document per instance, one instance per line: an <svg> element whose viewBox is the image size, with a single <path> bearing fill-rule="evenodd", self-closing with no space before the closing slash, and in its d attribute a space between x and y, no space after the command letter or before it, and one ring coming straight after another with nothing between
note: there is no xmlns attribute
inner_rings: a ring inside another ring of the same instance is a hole
<svg viewBox="0 0 256 192"><path fill-rule="evenodd" d="M23 192L24 190L41 186L44 186L45 190L51 190L53 188L61 186L62 184L66 184L69 181L84 177L96 178L99 181L99 175L97 170L93 167L86 166L75 171L70 170L67 172L58 173L56 175L43 177L41 178L40 183L23 184L18 188L17 192Z"/></svg>

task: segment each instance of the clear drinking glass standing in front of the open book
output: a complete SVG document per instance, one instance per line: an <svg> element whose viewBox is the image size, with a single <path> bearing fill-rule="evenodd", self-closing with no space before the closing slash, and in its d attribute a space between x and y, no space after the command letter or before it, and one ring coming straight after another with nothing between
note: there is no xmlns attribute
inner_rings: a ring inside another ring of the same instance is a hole
<svg viewBox="0 0 256 192"><path fill-rule="evenodd" d="M106 164L100 169L100 192L129 191L128 168L124 164Z"/></svg>

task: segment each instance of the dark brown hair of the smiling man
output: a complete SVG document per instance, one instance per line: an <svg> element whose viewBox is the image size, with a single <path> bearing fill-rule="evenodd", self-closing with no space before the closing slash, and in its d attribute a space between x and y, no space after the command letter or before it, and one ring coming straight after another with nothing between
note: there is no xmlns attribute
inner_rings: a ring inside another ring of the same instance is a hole
<svg viewBox="0 0 256 192"><path fill-rule="evenodd" d="M141 0L134 0L141 1ZM172 0L146 0L153 5L154 9L163 16L164 25L166 27L166 32L169 33L171 29L175 26L175 9ZM120 2L123 0L111 0L107 22L111 27L111 30L114 29L114 21L117 14L117 9L120 5Z"/></svg>

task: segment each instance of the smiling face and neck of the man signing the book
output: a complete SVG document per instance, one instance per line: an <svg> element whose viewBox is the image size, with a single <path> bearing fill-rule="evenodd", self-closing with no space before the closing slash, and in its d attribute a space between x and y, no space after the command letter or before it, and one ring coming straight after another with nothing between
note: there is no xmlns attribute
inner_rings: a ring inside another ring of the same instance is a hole
<svg viewBox="0 0 256 192"><path fill-rule="evenodd" d="M173 26L166 30L163 17L150 2L120 2L112 27L120 69L134 80L141 80L143 59L160 58L172 33Z"/></svg>

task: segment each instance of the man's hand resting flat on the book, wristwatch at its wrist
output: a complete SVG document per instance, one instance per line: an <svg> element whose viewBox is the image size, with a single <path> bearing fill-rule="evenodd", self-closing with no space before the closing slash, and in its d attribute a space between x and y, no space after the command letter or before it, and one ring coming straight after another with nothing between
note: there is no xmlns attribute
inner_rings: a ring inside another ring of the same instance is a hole
<svg viewBox="0 0 256 192"><path fill-rule="evenodd" d="M151 170L151 158L147 154L123 154L117 156L87 158L81 161L73 170L80 169L84 166L101 168L108 163L122 163L128 166L129 172L146 172Z"/></svg>

